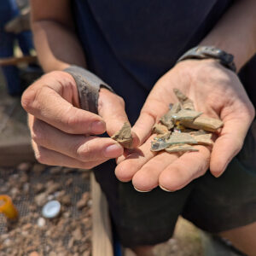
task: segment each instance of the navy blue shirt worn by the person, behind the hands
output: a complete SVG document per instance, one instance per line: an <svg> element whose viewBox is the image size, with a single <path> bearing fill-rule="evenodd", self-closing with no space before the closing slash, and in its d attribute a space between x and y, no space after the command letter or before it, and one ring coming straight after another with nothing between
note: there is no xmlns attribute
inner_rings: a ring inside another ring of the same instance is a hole
<svg viewBox="0 0 256 256"><path fill-rule="evenodd" d="M72 1L88 67L125 99L131 125L156 80L175 65L179 56L206 37L233 2ZM249 96L256 102L255 93L250 92L256 81L252 65L247 65L242 77ZM118 193L114 185L118 181L113 168L114 162L108 161L96 167L95 173L108 196L113 217L118 219Z"/></svg>

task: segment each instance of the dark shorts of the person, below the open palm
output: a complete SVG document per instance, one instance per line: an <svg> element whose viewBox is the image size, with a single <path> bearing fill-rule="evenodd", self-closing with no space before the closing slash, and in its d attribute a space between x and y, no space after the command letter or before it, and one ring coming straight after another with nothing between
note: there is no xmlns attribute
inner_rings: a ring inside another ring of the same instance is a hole
<svg viewBox="0 0 256 256"><path fill-rule="evenodd" d="M221 177L207 172L176 192L157 188L148 193L137 192L131 183L120 183L114 178L112 182L107 177L100 179L113 223L126 247L168 240L179 215L211 233L253 223L256 221L256 121L241 152Z"/></svg>

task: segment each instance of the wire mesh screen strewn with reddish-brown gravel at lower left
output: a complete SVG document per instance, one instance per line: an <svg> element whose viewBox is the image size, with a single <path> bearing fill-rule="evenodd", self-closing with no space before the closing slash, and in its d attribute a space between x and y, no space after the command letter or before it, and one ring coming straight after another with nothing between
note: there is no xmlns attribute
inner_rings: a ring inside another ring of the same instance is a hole
<svg viewBox="0 0 256 256"><path fill-rule="evenodd" d="M90 255L90 173L78 169L21 165L0 169L0 194L9 195L19 219L0 214L0 256ZM42 216L47 201L61 203L61 213Z"/></svg>

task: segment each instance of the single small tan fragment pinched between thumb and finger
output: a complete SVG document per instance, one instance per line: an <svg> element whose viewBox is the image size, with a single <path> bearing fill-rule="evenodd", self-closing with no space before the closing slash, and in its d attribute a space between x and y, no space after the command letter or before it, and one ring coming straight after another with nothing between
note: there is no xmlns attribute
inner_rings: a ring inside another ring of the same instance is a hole
<svg viewBox="0 0 256 256"><path fill-rule="evenodd" d="M120 143L124 148L132 148L133 138L131 136L131 125L125 122L123 127L117 131L111 138Z"/></svg>

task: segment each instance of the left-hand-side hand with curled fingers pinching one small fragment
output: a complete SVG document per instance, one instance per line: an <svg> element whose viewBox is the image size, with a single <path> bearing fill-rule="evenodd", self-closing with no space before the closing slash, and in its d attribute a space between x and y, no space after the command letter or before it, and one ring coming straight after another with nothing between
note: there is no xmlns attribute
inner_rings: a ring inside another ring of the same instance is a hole
<svg viewBox="0 0 256 256"><path fill-rule="evenodd" d="M112 136L128 121L123 99L107 89L100 90L99 115L90 113L79 108L73 77L55 71L30 85L21 104L29 113L32 147L40 163L89 169L124 153L113 139L93 136L105 131Z"/></svg>

